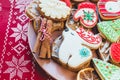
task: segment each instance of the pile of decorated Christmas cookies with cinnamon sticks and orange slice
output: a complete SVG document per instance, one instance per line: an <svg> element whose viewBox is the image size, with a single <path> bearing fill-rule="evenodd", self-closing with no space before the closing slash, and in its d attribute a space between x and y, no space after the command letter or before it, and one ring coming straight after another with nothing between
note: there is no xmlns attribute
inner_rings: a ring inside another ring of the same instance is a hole
<svg viewBox="0 0 120 80"><path fill-rule="evenodd" d="M77 80L120 80L119 0L33 0L26 14L40 58L78 72Z"/></svg>

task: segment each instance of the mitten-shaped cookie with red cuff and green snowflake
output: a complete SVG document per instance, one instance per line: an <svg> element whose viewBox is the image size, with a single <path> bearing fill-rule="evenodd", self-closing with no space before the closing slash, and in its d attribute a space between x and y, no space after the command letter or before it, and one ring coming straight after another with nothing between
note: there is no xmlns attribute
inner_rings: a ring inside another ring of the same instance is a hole
<svg viewBox="0 0 120 80"><path fill-rule="evenodd" d="M80 22L87 28L92 28L97 23L96 5L90 2L82 2L74 14L74 20Z"/></svg>

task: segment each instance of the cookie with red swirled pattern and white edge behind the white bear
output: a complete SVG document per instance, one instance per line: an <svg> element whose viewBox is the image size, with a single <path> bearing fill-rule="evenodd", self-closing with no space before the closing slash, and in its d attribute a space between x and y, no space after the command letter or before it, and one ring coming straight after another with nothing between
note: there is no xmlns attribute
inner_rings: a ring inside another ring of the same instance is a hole
<svg viewBox="0 0 120 80"><path fill-rule="evenodd" d="M90 47L91 49L98 49L102 43L102 38L99 34L93 34L92 31L87 31L83 27L79 27L76 32L81 39L81 43Z"/></svg>

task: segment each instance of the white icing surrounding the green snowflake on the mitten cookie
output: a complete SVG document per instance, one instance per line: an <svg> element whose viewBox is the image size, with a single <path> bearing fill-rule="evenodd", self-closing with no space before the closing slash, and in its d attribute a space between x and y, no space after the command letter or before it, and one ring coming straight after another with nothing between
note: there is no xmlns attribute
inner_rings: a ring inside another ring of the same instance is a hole
<svg viewBox="0 0 120 80"><path fill-rule="evenodd" d="M85 11L85 12L90 12L90 13L93 13L94 12L94 14L93 14L93 16L94 16L94 18L93 18L93 21L87 21L87 20L84 20L84 23L85 24L89 24L89 25L93 25L93 23L95 23L96 22L96 20L97 20L97 16L96 16L96 14L95 14L95 10L93 10L93 9L91 9L91 8L82 8L82 9L80 9L79 11L77 11L77 13L75 14L75 18L82 18L82 19L84 19L84 12L83 11Z"/></svg>

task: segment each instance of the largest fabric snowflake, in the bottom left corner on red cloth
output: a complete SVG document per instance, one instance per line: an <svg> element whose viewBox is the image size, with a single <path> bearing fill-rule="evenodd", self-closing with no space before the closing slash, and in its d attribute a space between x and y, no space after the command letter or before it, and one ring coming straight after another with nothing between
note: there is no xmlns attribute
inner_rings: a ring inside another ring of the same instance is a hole
<svg viewBox="0 0 120 80"><path fill-rule="evenodd" d="M18 76L22 79L23 73L29 72L29 70L26 68L26 65L30 62L30 60L24 60L24 55L17 59L15 56L12 57L12 61L5 61L5 63L8 65L8 69L4 71L4 73L10 73L10 80Z"/></svg>

